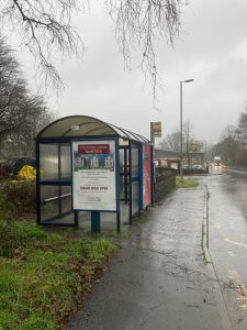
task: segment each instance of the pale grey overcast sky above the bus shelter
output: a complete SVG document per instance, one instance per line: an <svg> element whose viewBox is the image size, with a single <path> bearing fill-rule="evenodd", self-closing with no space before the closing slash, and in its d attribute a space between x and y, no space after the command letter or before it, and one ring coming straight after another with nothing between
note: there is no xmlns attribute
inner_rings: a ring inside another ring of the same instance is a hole
<svg viewBox="0 0 247 330"><path fill-rule="evenodd" d="M164 81L158 110L153 109L151 87L144 86L141 57L135 53L132 70L124 70L113 23L97 6L72 22L86 53L58 63L66 86L58 99L49 92L52 110L60 117L92 116L147 138L149 122L161 121L165 136L179 128L179 81L193 78L183 84L183 121L191 121L194 138L215 143L227 124L237 123L247 100L246 0L190 0L175 47L166 40L157 43ZM19 58L33 85L32 59L24 51Z"/></svg>

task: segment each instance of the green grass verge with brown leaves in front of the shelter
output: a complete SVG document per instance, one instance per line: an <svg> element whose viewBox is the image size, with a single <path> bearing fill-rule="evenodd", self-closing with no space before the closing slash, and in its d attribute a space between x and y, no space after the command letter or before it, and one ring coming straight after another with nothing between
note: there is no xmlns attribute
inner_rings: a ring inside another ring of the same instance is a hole
<svg viewBox="0 0 247 330"><path fill-rule="evenodd" d="M0 220L0 329L66 329L116 245Z"/></svg>

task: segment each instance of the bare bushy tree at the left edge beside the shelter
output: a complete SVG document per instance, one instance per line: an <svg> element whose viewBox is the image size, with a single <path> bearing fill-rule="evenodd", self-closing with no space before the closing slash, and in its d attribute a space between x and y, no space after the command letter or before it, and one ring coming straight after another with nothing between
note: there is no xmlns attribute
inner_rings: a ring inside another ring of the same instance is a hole
<svg viewBox="0 0 247 330"><path fill-rule="evenodd" d="M0 38L0 146L12 155L33 155L36 133L54 114L41 96L30 95L13 52Z"/></svg>

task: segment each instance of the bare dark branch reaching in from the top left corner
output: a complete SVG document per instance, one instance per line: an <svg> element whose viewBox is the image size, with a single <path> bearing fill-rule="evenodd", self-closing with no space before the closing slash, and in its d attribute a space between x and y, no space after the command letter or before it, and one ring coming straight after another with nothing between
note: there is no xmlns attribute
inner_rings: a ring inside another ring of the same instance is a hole
<svg viewBox="0 0 247 330"><path fill-rule="evenodd" d="M0 0L0 19L11 23L34 55L46 81L59 89L63 85L55 54L70 56L83 51L71 13L79 10L76 0Z"/></svg>

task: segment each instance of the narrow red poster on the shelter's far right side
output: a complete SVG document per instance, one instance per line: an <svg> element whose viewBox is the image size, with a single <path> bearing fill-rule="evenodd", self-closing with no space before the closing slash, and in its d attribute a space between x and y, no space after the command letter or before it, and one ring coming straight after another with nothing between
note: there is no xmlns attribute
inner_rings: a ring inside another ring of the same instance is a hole
<svg viewBox="0 0 247 330"><path fill-rule="evenodd" d="M143 207L151 202L151 152L150 145L143 146Z"/></svg>

